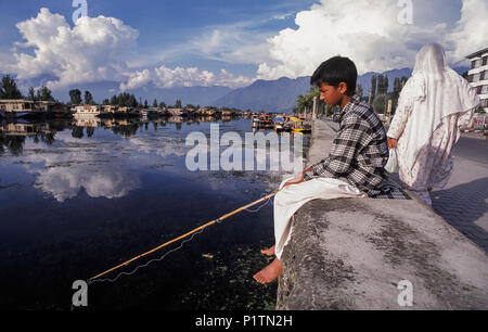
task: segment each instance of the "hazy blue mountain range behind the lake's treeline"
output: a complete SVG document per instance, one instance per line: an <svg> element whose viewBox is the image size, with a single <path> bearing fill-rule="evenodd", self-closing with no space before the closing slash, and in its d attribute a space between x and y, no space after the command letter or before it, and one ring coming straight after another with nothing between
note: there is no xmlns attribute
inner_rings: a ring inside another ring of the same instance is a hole
<svg viewBox="0 0 488 332"><path fill-rule="evenodd" d="M454 68L460 75L467 69L467 67ZM369 95L370 93L371 77L380 74L388 76L388 91L391 91L395 78L402 76L410 77L412 69L393 69L384 73L370 72L359 76L358 84L362 85L363 95ZM23 86L26 85L24 84ZM149 85L143 88L127 90L126 92L133 93L140 98L142 103L147 100L150 105L152 105L154 99L158 102L164 101L167 105L175 104L176 100L179 99L183 105L211 105L265 112L291 112L296 105L297 97L299 94L306 94L310 88L310 76L305 76L295 79L287 77L275 80L258 79L251 86L239 89L220 86L160 89L154 85ZM70 89L79 89L82 94L85 90L88 90L99 103L104 99L110 99L112 95L120 93L118 81L101 81L80 84L63 89L62 91L53 91L53 97L60 101L67 102L69 101L68 91Z"/></svg>

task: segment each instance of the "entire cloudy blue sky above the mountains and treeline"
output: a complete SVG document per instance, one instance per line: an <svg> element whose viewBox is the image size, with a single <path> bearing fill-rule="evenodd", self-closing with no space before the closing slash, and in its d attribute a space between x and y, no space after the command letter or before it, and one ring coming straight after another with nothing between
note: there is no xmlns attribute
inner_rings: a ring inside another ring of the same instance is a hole
<svg viewBox="0 0 488 332"><path fill-rule="evenodd" d="M451 64L487 47L486 0L0 0L0 73L53 89L117 81L228 86L311 75L337 54L361 73L413 67L427 42ZM403 3L399 5L399 3ZM411 8L411 22L399 14ZM474 33L476 31L476 33Z"/></svg>

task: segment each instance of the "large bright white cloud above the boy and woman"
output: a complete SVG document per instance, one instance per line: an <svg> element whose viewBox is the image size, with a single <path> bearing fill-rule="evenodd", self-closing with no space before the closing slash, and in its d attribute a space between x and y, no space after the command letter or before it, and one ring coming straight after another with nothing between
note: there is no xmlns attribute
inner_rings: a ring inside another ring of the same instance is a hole
<svg viewBox="0 0 488 332"><path fill-rule="evenodd" d="M413 5L414 13L422 12L422 3ZM445 5L445 1L433 1L429 9L436 13L436 8ZM311 75L334 55L354 60L360 74L412 67L416 52L428 42L441 43L455 63L487 47L486 8L485 0L464 0L461 20L450 28L446 15L429 15L427 21L419 14L413 25L400 24L397 1L321 0L296 15L298 28L283 29L268 39L272 61L259 65L258 78Z"/></svg>

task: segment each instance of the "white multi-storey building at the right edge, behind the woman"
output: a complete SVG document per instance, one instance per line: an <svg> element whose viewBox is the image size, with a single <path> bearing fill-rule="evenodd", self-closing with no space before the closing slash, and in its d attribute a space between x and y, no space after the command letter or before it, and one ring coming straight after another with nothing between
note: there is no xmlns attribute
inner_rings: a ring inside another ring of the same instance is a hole
<svg viewBox="0 0 488 332"><path fill-rule="evenodd" d="M481 106L488 112L488 48L466 56L471 60L467 81L476 89L481 99Z"/></svg>

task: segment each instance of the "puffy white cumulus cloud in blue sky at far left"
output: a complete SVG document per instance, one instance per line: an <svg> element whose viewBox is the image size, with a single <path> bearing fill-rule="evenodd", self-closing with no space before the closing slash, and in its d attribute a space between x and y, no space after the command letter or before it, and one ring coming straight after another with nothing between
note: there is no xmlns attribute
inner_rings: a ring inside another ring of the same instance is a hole
<svg viewBox="0 0 488 332"><path fill-rule="evenodd" d="M77 82L121 78L127 65L119 53L136 44L138 30L114 17L81 17L72 28L65 17L42 8L37 17L17 23L24 43L15 43L20 79L56 76L51 89ZM34 55L20 49L34 48Z"/></svg>

